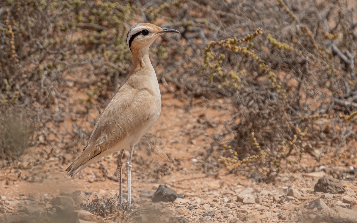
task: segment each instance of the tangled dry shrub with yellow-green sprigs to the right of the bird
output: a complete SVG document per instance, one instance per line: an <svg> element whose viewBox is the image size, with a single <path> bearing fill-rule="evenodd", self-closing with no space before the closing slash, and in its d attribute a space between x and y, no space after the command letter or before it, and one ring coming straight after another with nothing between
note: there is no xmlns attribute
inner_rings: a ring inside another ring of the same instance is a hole
<svg viewBox="0 0 357 223"><path fill-rule="evenodd" d="M210 42L203 66L237 106L229 131L220 136L221 143L230 136L220 161L231 171L260 163L256 170L266 177L275 176L282 161L299 162L307 145L339 159L356 142L357 45L353 20L345 16L356 16L355 10L343 1L272 4L273 20L261 8L251 14L262 21L262 31Z"/></svg>

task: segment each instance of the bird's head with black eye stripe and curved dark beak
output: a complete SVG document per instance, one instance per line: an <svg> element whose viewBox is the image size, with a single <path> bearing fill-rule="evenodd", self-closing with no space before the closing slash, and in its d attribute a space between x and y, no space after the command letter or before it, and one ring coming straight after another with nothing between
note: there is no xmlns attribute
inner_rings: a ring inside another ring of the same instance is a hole
<svg viewBox="0 0 357 223"><path fill-rule="evenodd" d="M149 46L166 32L177 32L174 29L160 28L150 23L139 23L130 28L126 36L126 43L131 51L139 50L141 48L149 48Z"/></svg>

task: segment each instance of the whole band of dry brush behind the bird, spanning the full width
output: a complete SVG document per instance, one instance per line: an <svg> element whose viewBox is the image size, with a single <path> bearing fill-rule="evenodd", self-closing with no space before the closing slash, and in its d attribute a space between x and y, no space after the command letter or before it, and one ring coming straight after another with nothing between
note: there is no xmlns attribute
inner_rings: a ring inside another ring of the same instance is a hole
<svg viewBox="0 0 357 223"><path fill-rule="evenodd" d="M232 98L237 112L212 142L223 157L253 158L245 164L260 162L267 175L308 144L339 157L356 138L355 121L345 121L357 108L355 18L337 0L1 1L0 158L36 145L47 146L40 161L75 156L130 69L126 32L137 22L181 31L150 50L167 91ZM247 36L258 27L263 34ZM203 60L210 41L227 38Z"/></svg>

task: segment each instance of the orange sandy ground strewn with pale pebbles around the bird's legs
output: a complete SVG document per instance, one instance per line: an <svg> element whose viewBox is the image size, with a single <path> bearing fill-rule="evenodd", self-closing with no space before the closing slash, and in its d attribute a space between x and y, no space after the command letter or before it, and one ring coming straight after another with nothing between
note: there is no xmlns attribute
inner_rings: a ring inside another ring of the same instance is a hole
<svg viewBox="0 0 357 223"><path fill-rule="evenodd" d="M357 215L353 216L357 192L355 183L342 181L346 190L342 194L314 192L318 179L330 175L329 169L341 173L346 171L343 163L327 166L322 172L312 169L315 173L310 175L283 170L276 181L270 183L256 182L250 178L249 171L247 174L229 173L224 168L215 167L214 163L213 171L204 173L205 152L210 147L212 136L221 131L220 126L234 109L228 100L196 98L192 106L187 106L171 93L162 95L159 121L152 132L144 137L142 145L145 148L136 148L134 152L132 197L135 204L129 222L313 222L325 209L331 213L336 207L351 211L345 217L352 219L352 222L357 221L354 219ZM203 126L203 122L209 125ZM154 146L151 149L147 147L152 144ZM213 156L218 155L218 151L213 153ZM29 217L30 220L26 220L28 222L61 222L53 218L60 214L53 198L67 196L63 193L81 192L72 210L78 209L80 203L96 201L95 194L100 199L102 196L115 196L118 189L115 154L92 164L73 178L67 176L64 170L74 157L66 157L62 163L50 158L46 163L36 165L36 161L26 162L25 159L19 163L19 168L2 168L0 222L11 222L13 216ZM320 165L307 153L302 161L306 167ZM354 162L352 158L351 163ZM150 197L142 196L144 190L145 193L154 193L160 184L182 193L184 198L177 198L173 203L152 203ZM296 189L300 196L288 196L291 189ZM86 198L85 193L91 195ZM318 198L327 207L322 210L319 207L306 208ZM148 209L155 211L145 212ZM338 212L333 213L338 217ZM102 220L91 219L93 222L127 220L118 213L105 216ZM15 219L12 222L21 221Z"/></svg>

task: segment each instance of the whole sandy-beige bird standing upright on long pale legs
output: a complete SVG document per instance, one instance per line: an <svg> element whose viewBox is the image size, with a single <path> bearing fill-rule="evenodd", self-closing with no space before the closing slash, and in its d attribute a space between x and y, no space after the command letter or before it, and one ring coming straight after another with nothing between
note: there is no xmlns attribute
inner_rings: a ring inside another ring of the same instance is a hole
<svg viewBox="0 0 357 223"><path fill-rule="evenodd" d="M122 203L122 157L129 148L126 161L128 204L131 205L131 157L134 146L155 124L161 111L161 95L149 47L161 34L177 32L150 23L132 26L126 41L133 55L133 66L125 81L99 117L82 153L66 169L71 176L108 154L121 151L117 158L119 203Z"/></svg>

